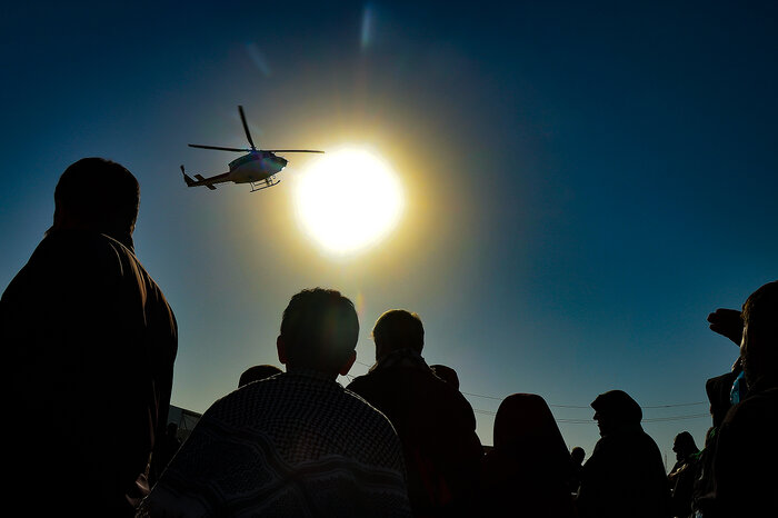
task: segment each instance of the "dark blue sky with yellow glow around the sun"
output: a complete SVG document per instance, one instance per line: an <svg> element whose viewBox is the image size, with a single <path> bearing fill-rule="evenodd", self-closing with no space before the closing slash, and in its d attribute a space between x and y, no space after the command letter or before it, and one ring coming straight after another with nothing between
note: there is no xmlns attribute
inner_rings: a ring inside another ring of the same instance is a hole
<svg viewBox="0 0 778 518"><path fill-rule="evenodd" d="M103 156L141 183L173 405L202 412L278 363L289 298L325 286L360 313L353 376L378 316L417 311L483 444L499 399L535 392L588 456L588 405L620 388L670 465L676 434L702 445L705 380L738 353L706 316L778 278L776 2L126 3L3 7L1 289L64 168ZM265 149L380 153L407 193L389 238L335 259L305 235L292 195L316 156L259 193L186 188L179 165L236 158L188 143L245 146L238 104Z"/></svg>

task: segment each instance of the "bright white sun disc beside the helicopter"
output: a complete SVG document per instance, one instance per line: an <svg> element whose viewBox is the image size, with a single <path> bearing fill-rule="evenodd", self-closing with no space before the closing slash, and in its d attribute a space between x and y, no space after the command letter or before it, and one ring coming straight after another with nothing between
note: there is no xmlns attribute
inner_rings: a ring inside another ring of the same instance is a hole
<svg viewBox="0 0 778 518"><path fill-rule="evenodd" d="M298 177L297 216L325 250L347 256L369 248L397 225L400 182L376 153L345 148L328 152Z"/></svg>

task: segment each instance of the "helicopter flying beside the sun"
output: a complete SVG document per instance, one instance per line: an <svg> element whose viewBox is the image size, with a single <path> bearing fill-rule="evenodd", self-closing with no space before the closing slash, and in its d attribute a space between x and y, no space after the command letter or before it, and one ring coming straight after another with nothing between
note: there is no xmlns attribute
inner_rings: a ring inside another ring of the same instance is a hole
<svg viewBox="0 0 778 518"><path fill-rule="evenodd" d="M318 151L315 149L257 149L253 140L251 139L249 126L246 123L243 107L239 106L238 111L240 112L240 120L243 123L246 138L251 145L250 149L226 148L221 146L201 146L197 143L190 143L189 147L217 149L220 151L247 152L248 155L243 155L242 157L238 157L232 160L229 163L230 170L228 172L216 175L210 178L203 178L202 175L194 175L197 180L187 175L187 171L183 170L183 165L181 165L181 173L183 173L183 181L187 183L187 187L205 186L210 190L216 190L216 183L231 181L233 183L249 183L251 186L251 192L256 192L280 183L281 180L277 179L276 175L281 172L281 169L287 166L288 161L286 158L279 157L276 153L323 153L323 151Z"/></svg>

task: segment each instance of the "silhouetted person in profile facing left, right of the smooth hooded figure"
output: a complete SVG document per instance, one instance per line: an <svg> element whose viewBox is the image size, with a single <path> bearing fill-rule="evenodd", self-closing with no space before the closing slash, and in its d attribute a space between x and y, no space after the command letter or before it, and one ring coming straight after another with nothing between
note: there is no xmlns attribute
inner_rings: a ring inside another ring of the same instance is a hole
<svg viewBox="0 0 778 518"><path fill-rule="evenodd" d="M661 454L640 426L640 406L621 390L591 404L600 440L584 465L578 492L582 518L666 518L670 489Z"/></svg>

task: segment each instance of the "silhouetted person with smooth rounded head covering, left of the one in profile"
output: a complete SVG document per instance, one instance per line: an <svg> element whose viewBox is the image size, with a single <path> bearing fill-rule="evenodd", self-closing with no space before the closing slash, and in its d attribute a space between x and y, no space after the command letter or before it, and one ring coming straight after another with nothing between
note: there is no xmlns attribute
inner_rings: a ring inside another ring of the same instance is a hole
<svg viewBox="0 0 778 518"><path fill-rule="evenodd" d="M483 458L479 515L573 518L570 454L546 401L508 396L495 417L495 447Z"/></svg>

